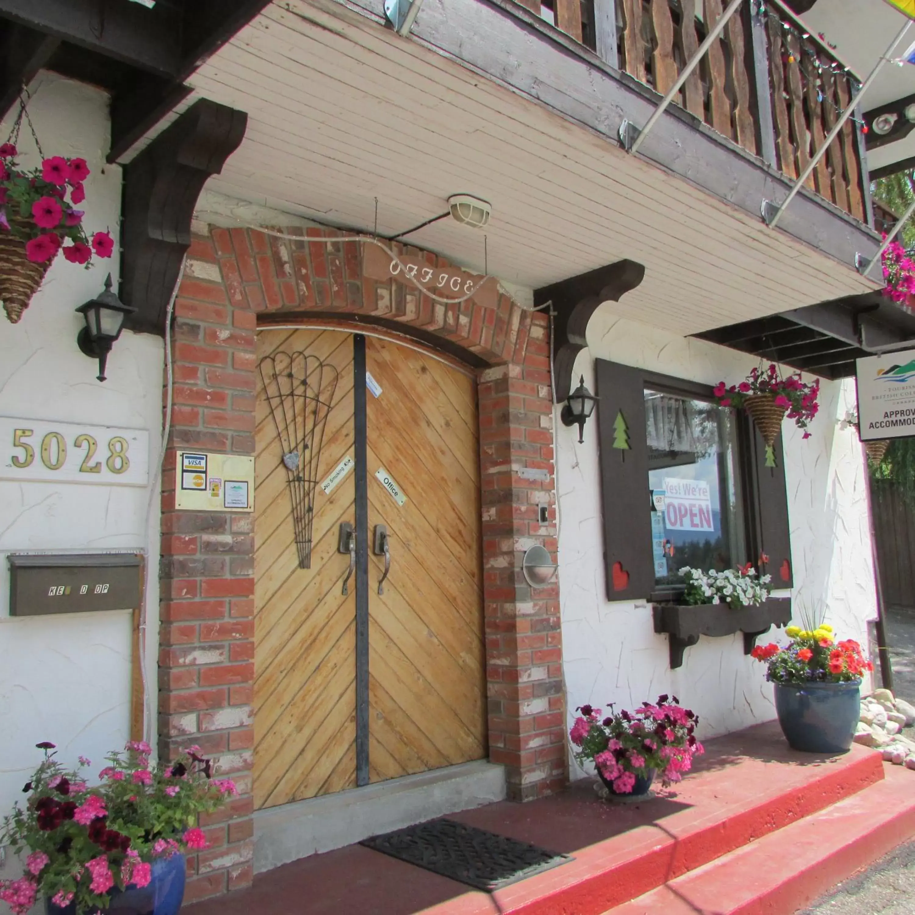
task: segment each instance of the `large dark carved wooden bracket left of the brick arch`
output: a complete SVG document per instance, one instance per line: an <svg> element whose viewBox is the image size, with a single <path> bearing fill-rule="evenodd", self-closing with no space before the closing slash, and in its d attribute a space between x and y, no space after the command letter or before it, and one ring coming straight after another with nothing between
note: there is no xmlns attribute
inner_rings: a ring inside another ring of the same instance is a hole
<svg viewBox="0 0 915 915"><path fill-rule="evenodd" d="M244 137L248 115L201 99L124 167L121 298L132 330L164 334L203 185Z"/></svg>

